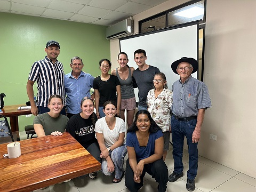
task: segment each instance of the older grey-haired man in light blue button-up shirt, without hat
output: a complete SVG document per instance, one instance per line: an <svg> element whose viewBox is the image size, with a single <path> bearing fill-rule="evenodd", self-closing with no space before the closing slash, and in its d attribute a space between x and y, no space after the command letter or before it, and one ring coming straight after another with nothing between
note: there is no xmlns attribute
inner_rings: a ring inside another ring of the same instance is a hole
<svg viewBox="0 0 256 192"><path fill-rule="evenodd" d="M90 93L94 77L82 71L83 60L79 57L72 58L70 67L72 71L64 77L68 118L81 112L81 100L84 97L94 100L94 93Z"/></svg>

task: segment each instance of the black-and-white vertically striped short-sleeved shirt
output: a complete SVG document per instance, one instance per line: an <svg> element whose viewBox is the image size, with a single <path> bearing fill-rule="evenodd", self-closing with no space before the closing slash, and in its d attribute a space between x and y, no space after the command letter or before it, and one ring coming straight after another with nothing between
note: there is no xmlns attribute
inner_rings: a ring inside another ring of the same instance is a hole
<svg viewBox="0 0 256 192"><path fill-rule="evenodd" d="M64 75L62 63L58 60L53 63L45 56L44 59L34 62L28 79L37 83L37 106L47 107L53 94L60 95L66 106Z"/></svg>

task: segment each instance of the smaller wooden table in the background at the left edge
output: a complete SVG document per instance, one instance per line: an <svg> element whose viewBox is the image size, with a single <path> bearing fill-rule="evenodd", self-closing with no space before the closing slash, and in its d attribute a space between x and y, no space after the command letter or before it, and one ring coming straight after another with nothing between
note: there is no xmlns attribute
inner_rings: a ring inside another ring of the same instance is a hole
<svg viewBox="0 0 256 192"><path fill-rule="evenodd" d="M17 110L18 107L24 106L24 105L12 105L12 106L4 106L2 109L3 114L5 117L10 118L10 126L12 132L17 133L19 138L19 119L18 116L20 115L29 115L31 114L31 110Z"/></svg>

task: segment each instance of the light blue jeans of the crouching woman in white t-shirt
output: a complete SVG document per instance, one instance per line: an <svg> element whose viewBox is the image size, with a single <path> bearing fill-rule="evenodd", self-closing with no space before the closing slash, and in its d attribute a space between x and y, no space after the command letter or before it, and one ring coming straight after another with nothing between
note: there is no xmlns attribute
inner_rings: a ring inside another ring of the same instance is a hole
<svg viewBox="0 0 256 192"><path fill-rule="evenodd" d="M120 179L124 172L124 157L127 153L125 145L115 148L110 157L115 165L115 178ZM105 158L101 160L101 171L105 175L111 175L112 173L108 171L108 164Z"/></svg>

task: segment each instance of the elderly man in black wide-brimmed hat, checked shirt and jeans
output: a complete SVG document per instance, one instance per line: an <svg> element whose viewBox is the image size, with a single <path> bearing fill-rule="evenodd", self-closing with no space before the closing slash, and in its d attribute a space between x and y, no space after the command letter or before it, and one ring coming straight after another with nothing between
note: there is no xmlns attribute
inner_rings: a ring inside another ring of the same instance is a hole
<svg viewBox="0 0 256 192"><path fill-rule="evenodd" d="M188 191L195 190L195 177L198 168L197 144L201 135L205 109L211 107L211 99L207 86L191 76L198 69L198 62L193 58L183 57L172 63L172 70L180 75L173 83L172 105L172 141L174 171L169 181L174 182L183 176L183 141L187 138L189 154L189 170L187 171Z"/></svg>

